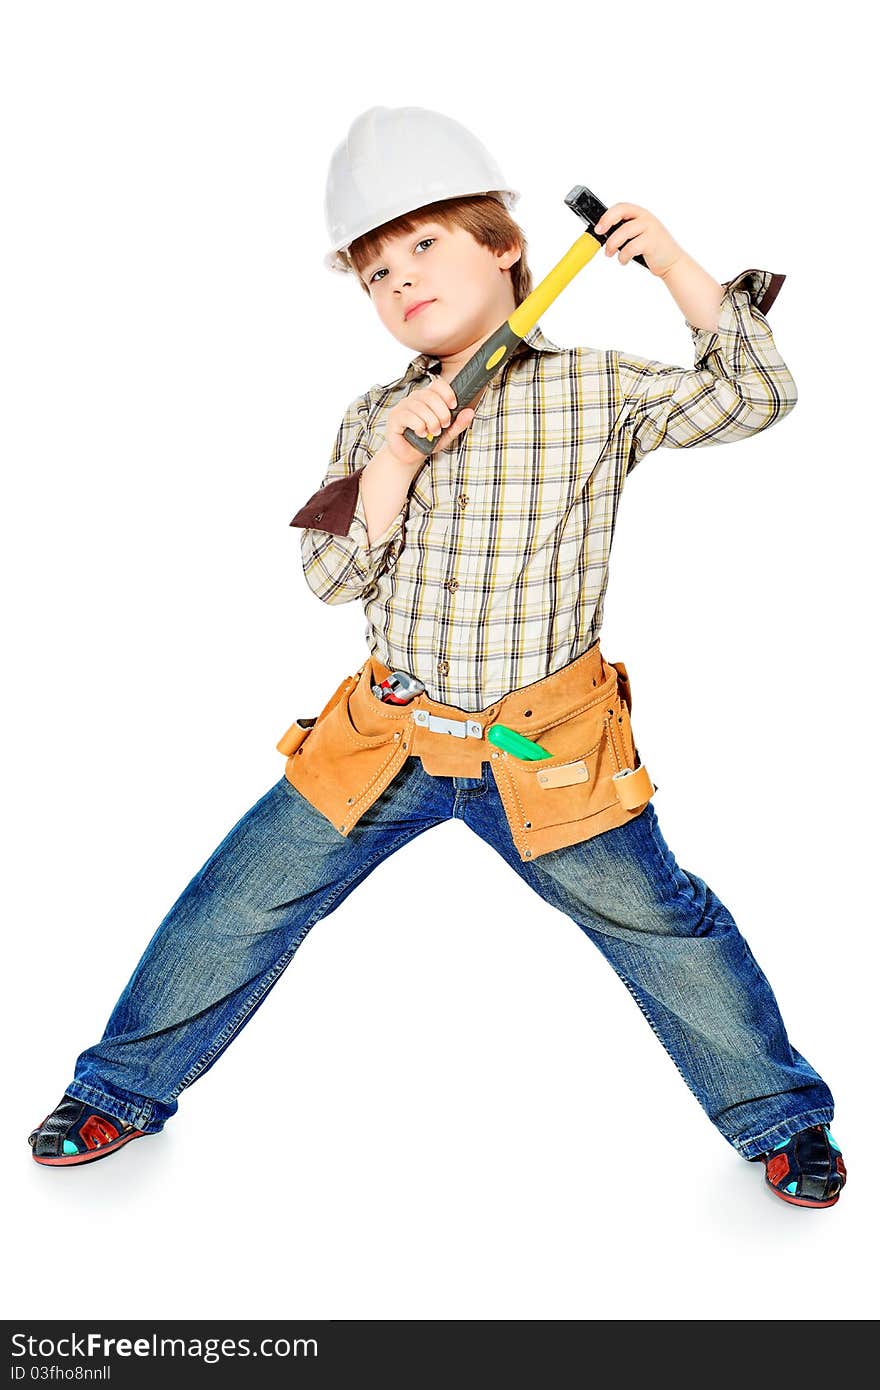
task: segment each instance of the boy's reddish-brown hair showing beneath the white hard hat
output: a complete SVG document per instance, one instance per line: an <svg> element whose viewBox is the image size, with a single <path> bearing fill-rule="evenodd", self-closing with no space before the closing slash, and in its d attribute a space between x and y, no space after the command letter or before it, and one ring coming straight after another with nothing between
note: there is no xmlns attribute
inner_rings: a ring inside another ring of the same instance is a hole
<svg viewBox="0 0 880 1390"><path fill-rule="evenodd" d="M498 193L474 193L468 197L445 197L439 203L425 203L414 213L403 213L393 221L384 222L353 240L348 250L348 260L357 274L360 288L367 295L370 286L361 278L363 267L381 253L382 246L392 236L413 232L418 222L425 221L442 222L443 227L463 227L480 246L488 246L491 250L506 252L519 245L521 256L510 267L513 296L516 303L521 304L531 295L531 271L525 260L528 243L523 228L510 217Z"/></svg>

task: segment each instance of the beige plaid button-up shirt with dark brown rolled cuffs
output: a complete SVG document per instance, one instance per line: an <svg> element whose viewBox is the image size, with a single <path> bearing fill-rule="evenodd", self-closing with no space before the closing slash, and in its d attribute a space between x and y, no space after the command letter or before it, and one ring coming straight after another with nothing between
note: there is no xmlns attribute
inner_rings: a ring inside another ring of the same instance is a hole
<svg viewBox="0 0 880 1390"><path fill-rule="evenodd" d="M599 635L637 463L660 446L745 439L795 404L765 318L784 278L747 270L724 284L717 329L687 324L694 370L557 348L535 325L370 545L359 471L391 407L441 371L420 353L352 402L324 485L291 521L309 587L325 603L360 599L370 652L470 713L567 666Z"/></svg>

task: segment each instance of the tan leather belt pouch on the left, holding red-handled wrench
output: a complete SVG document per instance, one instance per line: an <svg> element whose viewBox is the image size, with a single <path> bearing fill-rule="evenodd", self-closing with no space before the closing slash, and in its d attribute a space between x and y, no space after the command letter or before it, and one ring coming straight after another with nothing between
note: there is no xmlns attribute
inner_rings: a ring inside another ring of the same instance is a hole
<svg viewBox="0 0 880 1390"><path fill-rule="evenodd" d="M370 691L370 663L346 677L314 720L295 720L277 744L288 755L285 777L341 834L348 835L409 756L406 713L371 721L385 710ZM360 703L356 696L360 695Z"/></svg>

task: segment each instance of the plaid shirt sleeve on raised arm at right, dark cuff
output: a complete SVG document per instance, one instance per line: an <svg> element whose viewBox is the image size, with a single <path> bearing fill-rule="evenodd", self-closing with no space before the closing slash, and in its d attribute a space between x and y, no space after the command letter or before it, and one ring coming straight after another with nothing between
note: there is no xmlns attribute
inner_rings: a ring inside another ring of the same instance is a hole
<svg viewBox="0 0 880 1390"><path fill-rule="evenodd" d="M652 449L730 443L766 430L794 409L798 389L766 314L784 275L744 270L723 285L715 331L687 322L694 370L614 353L628 435L627 474Z"/></svg>

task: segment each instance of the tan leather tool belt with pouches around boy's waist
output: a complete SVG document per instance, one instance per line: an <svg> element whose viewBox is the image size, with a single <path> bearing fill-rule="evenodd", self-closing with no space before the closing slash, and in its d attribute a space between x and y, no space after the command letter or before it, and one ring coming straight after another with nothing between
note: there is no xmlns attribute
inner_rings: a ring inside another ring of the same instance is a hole
<svg viewBox="0 0 880 1390"><path fill-rule="evenodd" d="M578 844L638 816L656 791L633 739L623 662L594 645L553 676L510 691L478 713L427 694L386 705L371 687L389 667L368 656L317 719L295 720L277 744L285 777L348 835L407 758L432 777L492 769L521 859ZM524 734L551 758L523 762L487 741L492 724Z"/></svg>

